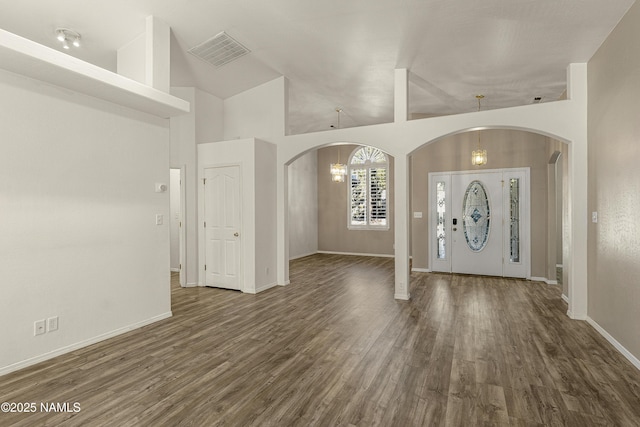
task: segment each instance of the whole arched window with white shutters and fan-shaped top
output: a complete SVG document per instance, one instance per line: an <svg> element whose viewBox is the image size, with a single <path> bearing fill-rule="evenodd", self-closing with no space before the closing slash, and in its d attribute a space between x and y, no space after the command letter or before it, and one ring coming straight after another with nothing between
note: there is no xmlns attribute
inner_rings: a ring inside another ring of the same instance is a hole
<svg viewBox="0 0 640 427"><path fill-rule="evenodd" d="M388 229L387 155L374 147L356 148L349 158L349 228Z"/></svg>

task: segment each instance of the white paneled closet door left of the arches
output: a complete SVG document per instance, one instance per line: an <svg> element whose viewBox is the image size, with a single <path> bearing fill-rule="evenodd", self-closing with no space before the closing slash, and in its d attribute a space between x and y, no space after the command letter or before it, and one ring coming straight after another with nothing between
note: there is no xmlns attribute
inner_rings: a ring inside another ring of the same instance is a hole
<svg viewBox="0 0 640 427"><path fill-rule="evenodd" d="M205 285L240 289L240 168L204 170Z"/></svg>

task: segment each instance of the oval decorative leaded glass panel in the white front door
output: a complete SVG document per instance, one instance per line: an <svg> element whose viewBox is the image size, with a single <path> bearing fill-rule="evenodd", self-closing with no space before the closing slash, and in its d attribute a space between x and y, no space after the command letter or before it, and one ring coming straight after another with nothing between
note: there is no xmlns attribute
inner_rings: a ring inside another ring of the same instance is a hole
<svg viewBox="0 0 640 427"><path fill-rule="evenodd" d="M462 201L462 228L469 248L478 252L487 244L490 230L489 198L480 181L472 181Z"/></svg>

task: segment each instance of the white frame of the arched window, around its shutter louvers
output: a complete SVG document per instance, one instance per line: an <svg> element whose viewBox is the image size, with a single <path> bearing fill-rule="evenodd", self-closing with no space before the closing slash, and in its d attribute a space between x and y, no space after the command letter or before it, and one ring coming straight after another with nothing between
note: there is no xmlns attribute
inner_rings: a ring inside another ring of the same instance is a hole
<svg viewBox="0 0 640 427"><path fill-rule="evenodd" d="M358 162L354 163L354 158L361 151L368 151L365 156L360 156L358 158ZM373 161L372 157L378 157L378 160ZM379 161L380 155L384 157L384 161ZM365 157L365 160L362 161L362 157ZM386 224L377 225L371 223L371 209L369 207L371 201L371 170L372 169L384 169L385 171L385 220ZM352 194L353 194L353 183L352 183L352 171L353 170L364 170L366 176L366 195L365 195L365 224L352 224L353 218L353 204L352 204ZM387 231L391 227L391 221L389 218L389 156L383 152L382 150L371 147L368 145L358 146L355 148L351 155L349 156L349 162L347 163L347 177L348 177L348 189L347 189L347 228L349 230L375 230L375 231Z"/></svg>

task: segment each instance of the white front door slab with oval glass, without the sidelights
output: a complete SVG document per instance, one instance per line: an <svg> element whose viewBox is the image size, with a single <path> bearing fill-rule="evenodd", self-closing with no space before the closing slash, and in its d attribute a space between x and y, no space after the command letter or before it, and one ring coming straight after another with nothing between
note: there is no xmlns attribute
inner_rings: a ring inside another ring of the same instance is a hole
<svg viewBox="0 0 640 427"><path fill-rule="evenodd" d="M502 276L502 173L451 176L453 273Z"/></svg>

